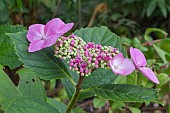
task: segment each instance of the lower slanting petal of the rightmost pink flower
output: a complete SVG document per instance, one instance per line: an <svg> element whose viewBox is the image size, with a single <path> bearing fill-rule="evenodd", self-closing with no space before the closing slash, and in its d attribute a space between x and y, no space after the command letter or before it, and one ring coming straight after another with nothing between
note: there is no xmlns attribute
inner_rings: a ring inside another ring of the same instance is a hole
<svg viewBox="0 0 170 113"><path fill-rule="evenodd" d="M139 69L142 74L148 78L149 80L151 80L152 82L156 83L156 84L159 84L159 80L157 79L155 73L148 67L141 67Z"/></svg>

